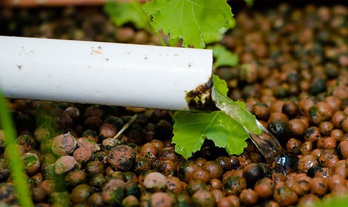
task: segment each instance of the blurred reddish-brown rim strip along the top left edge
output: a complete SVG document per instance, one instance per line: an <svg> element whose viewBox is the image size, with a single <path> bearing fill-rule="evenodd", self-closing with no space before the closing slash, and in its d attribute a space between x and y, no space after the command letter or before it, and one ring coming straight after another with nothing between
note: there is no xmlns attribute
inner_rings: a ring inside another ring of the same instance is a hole
<svg viewBox="0 0 348 207"><path fill-rule="evenodd" d="M108 0L0 0L0 6L37 7L37 6L69 6L69 5L102 5ZM130 2L133 0L116 0Z"/></svg>

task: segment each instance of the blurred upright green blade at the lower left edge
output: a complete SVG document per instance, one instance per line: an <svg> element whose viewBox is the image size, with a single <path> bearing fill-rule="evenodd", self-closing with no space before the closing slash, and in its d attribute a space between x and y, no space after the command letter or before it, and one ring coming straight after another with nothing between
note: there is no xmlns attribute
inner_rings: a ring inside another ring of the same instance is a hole
<svg viewBox="0 0 348 207"><path fill-rule="evenodd" d="M19 155L19 149L14 145L16 132L14 130L10 111L8 110L7 101L0 92L0 122L1 127L5 131L6 150L8 164L13 179L13 184L17 192L17 199L22 207L33 207L34 204L30 199L28 181L25 178L23 163Z"/></svg>

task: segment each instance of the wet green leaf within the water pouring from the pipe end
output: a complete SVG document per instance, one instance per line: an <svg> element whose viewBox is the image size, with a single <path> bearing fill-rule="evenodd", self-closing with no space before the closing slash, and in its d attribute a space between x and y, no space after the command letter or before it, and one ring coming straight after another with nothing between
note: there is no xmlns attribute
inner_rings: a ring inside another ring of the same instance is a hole
<svg viewBox="0 0 348 207"><path fill-rule="evenodd" d="M255 115L248 111L245 103L232 101L214 86L212 87L211 97L216 107L218 107L220 110L224 111L227 115L232 117L238 123L242 124L252 133L257 135L262 134L262 125L256 119Z"/></svg>

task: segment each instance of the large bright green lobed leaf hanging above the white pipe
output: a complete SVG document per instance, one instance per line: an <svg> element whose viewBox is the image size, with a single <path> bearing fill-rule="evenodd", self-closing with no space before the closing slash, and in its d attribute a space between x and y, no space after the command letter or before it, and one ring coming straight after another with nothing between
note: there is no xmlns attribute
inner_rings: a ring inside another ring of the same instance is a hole
<svg viewBox="0 0 348 207"><path fill-rule="evenodd" d="M156 31L182 38L182 46L204 48L203 36L218 36L233 16L226 0L152 0L144 5Z"/></svg>

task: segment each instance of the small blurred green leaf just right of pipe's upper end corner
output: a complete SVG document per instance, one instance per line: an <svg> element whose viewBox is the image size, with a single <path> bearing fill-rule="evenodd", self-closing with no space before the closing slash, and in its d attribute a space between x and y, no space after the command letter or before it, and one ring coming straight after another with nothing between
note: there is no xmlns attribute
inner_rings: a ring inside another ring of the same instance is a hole
<svg viewBox="0 0 348 207"><path fill-rule="evenodd" d="M208 49L213 50L213 57L215 58L213 68L220 66L236 66L238 64L238 55L233 54L227 50L224 46L216 44Z"/></svg>

